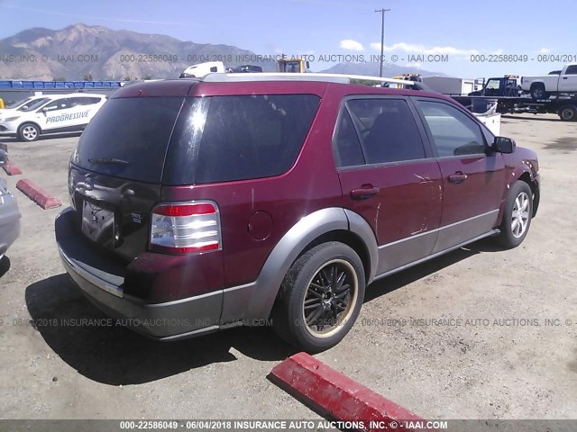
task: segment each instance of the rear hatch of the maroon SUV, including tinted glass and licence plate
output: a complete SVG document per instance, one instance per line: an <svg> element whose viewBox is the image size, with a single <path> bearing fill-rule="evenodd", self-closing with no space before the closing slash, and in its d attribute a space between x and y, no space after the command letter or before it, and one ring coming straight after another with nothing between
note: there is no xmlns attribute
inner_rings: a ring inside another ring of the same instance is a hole
<svg viewBox="0 0 577 432"><path fill-rule="evenodd" d="M90 121L70 160L70 202L78 231L127 260L148 248L170 137L194 85L154 84L114 94Z"/></svg>

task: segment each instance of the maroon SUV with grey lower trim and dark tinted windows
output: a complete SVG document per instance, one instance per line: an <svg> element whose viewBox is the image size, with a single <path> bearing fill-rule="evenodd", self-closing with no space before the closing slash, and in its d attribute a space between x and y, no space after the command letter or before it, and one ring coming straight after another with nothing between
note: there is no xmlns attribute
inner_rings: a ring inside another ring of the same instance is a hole
<svg viewBox="0 0 577 432"><path fill-rule="evenodd" d="M131 85L69 165L60 255L88 299L160 339L272 321L309 351L365 286L467 243L516 247L536 154L440 94L315 76Z"/></svg>

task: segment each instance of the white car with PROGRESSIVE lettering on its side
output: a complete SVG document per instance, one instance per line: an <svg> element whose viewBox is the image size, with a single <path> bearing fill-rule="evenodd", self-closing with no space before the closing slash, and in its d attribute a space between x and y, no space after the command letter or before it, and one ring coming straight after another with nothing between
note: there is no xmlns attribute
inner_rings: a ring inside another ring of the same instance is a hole
<svg viewBox="0 0 577 432"><path fill-rule="evenodd" d="M0 111L0 136L33 141L41 133L84 130L105 102L104 94L45 94L35 97L17 109Z"/></svg>

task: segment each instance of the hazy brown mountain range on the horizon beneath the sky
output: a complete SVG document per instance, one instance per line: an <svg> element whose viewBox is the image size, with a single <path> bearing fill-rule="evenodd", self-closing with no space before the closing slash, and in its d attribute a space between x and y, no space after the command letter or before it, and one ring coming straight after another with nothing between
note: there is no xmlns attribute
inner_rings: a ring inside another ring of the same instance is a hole
<svg viewBox="0 0 577 432"><path fill-rule="evenodd" d="M224 60L225 67L252 64L274 71L274 56L231 45L183 41L162 34L111 30L78 23L62 30L34 28L0 40L0 79L125 80L178 77L188 66ZM385 76L418 72L384 65ZM340 63L321 72L379 75L379 63Z"/></svg>

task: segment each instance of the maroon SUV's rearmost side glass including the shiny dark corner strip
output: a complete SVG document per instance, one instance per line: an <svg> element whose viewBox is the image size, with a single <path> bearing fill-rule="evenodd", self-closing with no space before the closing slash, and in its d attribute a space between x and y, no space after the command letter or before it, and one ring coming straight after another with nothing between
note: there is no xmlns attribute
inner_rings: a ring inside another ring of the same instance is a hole
<svg viewBox="0 0 577 432"><path fill-rule="evenodd" d="M312 94L188 99L163 184L206 184L280 175L295 163L320 99Z"/></svg>

